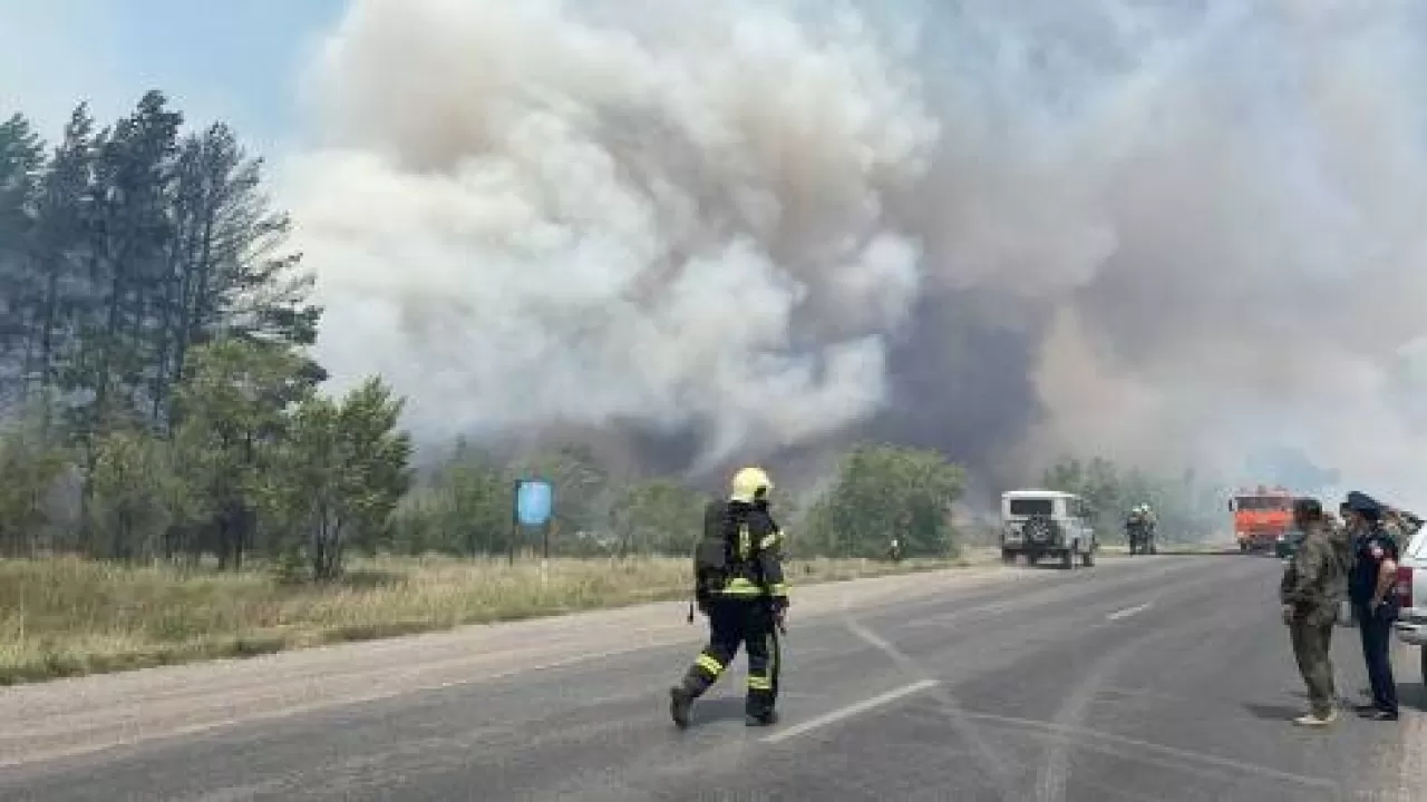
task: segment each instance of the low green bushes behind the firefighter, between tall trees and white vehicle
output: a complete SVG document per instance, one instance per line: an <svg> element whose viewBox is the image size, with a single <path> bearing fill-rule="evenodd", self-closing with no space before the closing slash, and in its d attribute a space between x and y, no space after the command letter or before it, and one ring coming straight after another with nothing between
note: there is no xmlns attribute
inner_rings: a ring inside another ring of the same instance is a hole
<svg viewBox="0 0 1427 802"><path fill-rule="evenodd" d="M708 494L675 479L618 477L571 445L501 464L458 445L394 515L392 551L509 554L538 534L512 525L514 479L554 485L554 551L565 555L686 555L704 527ZM940 454L863 444L843 455L831 485L805 508L782 488L772 507L799 557L880 557L898 537L908 555L948 557L960 545L950 507L962 469Z"/></svg>

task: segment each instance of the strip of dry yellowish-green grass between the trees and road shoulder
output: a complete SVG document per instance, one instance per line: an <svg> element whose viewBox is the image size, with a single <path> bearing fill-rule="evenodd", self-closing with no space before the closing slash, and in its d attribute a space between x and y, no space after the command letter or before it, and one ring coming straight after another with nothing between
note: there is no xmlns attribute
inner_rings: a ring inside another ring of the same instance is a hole
<svg viewBox="0 0 1427 802"><path fill-rule="evenodd" d="M798 584L969 565L973 558L791 561ZM675 558L354 561L335 587L271 574L120 567L74 558L0 561L0 685L127 671L464 624L685 598Z"/></svg>

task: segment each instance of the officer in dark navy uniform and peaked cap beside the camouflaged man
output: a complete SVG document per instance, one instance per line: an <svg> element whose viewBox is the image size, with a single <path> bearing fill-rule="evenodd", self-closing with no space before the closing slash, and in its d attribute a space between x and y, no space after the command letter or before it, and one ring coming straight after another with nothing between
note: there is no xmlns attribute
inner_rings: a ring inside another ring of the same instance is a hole
<svg viewBox="0 0 1427 802"><path fill-rule="evenodd" d="M1393 679L1390 646L1397 599L1393 585L1397 579L1397 544L1383 531L1383 505L1366 494L1347 495L1349 527L1356 532L1353 571L1349 577L1349 599L1353 602L1359 632L1363 636L1363 659L1373 701L1359 705L1357 712L1374 721L1397 721L1397 684Z"/></svg>

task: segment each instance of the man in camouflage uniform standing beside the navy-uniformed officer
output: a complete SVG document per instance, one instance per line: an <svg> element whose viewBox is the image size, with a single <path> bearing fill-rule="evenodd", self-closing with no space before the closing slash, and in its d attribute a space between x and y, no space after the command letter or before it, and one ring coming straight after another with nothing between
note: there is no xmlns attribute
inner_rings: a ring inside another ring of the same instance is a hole
<svg viewBox="0 0 1427 802"><path fill-rule="evenodd" d="M1294 719L1300 726L1324 726L1337 718L1330 645L1339 604L1347 595L1350 545L1347 534L1329 527L1323 505L1300 498L1293 517L1304 534L1289 561L1279 587L1283 622L1289 626L1293 656L1309 688L1309 714Z"/></svg>

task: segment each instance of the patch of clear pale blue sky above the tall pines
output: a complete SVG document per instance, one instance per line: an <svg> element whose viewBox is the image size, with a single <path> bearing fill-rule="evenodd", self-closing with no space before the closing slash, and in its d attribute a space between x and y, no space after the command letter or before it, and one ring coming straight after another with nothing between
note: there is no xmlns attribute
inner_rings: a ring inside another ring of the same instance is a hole
<svg viewBox="0 0 1427 802"><path fill-rule="evenodd" d="M101 123L150 90L260 151L297 126L297 77L344 0L0 0L0 116L54 140L88 100Z"/></svg>

